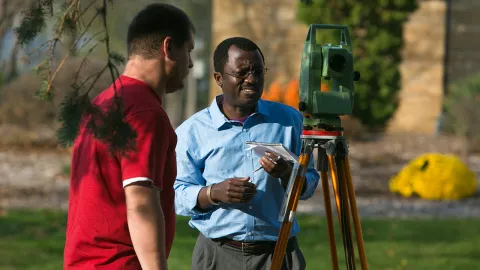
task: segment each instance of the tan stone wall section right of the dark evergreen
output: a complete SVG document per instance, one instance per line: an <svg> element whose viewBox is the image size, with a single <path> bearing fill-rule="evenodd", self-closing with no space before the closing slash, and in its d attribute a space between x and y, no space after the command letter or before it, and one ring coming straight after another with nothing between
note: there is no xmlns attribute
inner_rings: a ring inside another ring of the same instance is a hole
<svg viewBox="0 0 480 270"><path fill-rule="evenodd" d="M400 104L388 132L436 133L443 101L445 11L443 0L419 1L404 26Z"/></svg>

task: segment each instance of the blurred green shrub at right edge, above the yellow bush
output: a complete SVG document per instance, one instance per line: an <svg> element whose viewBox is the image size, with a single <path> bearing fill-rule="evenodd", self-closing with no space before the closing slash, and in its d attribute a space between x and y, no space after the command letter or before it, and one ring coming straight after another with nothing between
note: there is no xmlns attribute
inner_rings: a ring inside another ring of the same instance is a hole
<svg viewBox="0 0 480 270"><path fill-rule="evenodd" d="M470 150L480 150L480 73L452 84L444 106L447 130L464 137Z"/></svg>

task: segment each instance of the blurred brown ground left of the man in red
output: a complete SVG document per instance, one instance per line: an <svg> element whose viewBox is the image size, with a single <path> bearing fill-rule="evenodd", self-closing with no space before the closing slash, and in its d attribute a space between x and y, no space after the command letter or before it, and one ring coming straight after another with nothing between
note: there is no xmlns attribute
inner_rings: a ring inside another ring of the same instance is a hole
<svg viewBox="0 0 480 270"><path fill-rule="evenodd" d="M63 149L0 150L0 208L64 208L69 163Z"/></svg>

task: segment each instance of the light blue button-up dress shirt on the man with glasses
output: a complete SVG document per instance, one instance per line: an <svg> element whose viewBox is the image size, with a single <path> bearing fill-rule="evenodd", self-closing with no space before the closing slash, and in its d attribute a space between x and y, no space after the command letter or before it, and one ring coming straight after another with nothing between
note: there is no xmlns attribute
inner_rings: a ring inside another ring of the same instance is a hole
<svg viewBox="0 0 480 270"><path fill-rule="evenodd" d="M218 96L217 98L219 98ZM177 129L177 178L175 211L191 216L189 224L208 238L228 237L237 241L276 241L281 222L278 215L285 189L280 179L264 170L246 141L282 143L300 155L302 115L281 103L259 100L255 113L244 124L228 120L215 98L210 107L197 112ZM250 177L257 193L248 203L221 204L200 211L196 208L201 188L232 177ZM311 159L306 174L306 200L315 192L319 174ZM299 231L294 220L291 236Z"/></svg>

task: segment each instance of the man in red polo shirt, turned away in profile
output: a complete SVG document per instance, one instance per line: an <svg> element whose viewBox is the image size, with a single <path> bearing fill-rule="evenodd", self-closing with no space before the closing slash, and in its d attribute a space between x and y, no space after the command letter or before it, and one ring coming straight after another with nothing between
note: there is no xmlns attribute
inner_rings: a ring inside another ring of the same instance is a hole
<svg viewBox="0 0 480 270"><path fill-rule="evenodd" d="M194 31L183 11L166 4L147 6L131 22L128 62L115 85L136 148L112 155L82 122L72 152L64 269L167 269L177 137L162 98L183 87ZM106 111L113 98L112 84L92 102Z"/></svg>

